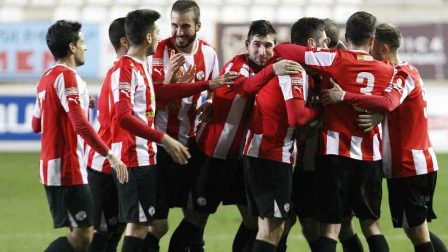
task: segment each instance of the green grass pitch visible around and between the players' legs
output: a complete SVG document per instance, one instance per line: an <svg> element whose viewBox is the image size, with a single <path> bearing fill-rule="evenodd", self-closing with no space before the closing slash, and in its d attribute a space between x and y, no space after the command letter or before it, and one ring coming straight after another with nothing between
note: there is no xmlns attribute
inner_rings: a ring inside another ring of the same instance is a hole
<svg viewBox="0 0 448 252"><path fill-rule="evenodd" d="M439 174L435 196L435 211L438 219L430 224L430 230L448 243L448 155L438 155ZM52 228L52 220L43 186L38 179L38 153L0 153L4 160L0 168L0 251L43 251L55 238L65 235L65 229ZM381 214L381 229L389 243L390 251L413 251L413 247L401 230L393 229L384 193ZM170 231L162 238L160 251L166 251L169 238L182 218L179 209L170 212ZM210 216L205 230L206 250L228 252L238 229L241 217L234 206L219 207ZM356 221L357 222L357 221ZM365 251L367 243L363 242ZM288 239L289 251L310 251L300 226L295 225ZM338 245L338 251L342 251Z"/></svg>

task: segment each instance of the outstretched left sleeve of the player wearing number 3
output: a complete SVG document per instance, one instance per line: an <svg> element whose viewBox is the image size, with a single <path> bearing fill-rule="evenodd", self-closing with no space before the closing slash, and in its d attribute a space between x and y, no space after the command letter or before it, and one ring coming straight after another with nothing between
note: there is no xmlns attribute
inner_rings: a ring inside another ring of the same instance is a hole
<svg viewBox="0 0 448 252"><path fill-rule="evenodd" d="M314 70L331 72L339 59L338 50L327 50L319 47L305 47L292 43L282 43L274 47L274 52L283 59L305 64Z"/></svg>

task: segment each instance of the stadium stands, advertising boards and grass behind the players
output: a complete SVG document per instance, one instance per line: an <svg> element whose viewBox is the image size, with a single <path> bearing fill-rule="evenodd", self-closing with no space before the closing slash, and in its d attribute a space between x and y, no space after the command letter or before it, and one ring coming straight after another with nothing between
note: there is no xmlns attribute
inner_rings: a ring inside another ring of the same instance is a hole
<svg viewBox="0 0 448 252"><path fill-rule="evenodd" d="M341 24L355 11L392 22L403 33L400 49L406 60L421 71L428 96L430 137L439 161L435 208L439 219L430 227L448 243L448 1L447 0L214 0L197 1L202 28L198 33L218 52L220 66L244 52L247 24L267 19L276 27L279 41L289 40L289 27L303 16L329 17ZM53 64L45 44L52 21L82 22L88 51L86 64L77 70L96 95L105 72L115 58L107 27L111 20L136 8L159 11L160 37L169 37L170 0L0 0L0 251L42 251L65 230L53 230L48 204L38 181L40 135L32 133L31 118L35 86L40 75ZM343 39L343 38L342 38ZM94 119L92 113L92 121ZM383 194L382 230L391 251L412 251L400 230L391 228L387 191ZM176 227L181 212L170 213ZM220 207L209 219L205 232L207 251L230 251L240 223L236 207ZM166 237L161 251L166 250ZM359 226L357 231L360 234ZM361 239L363 240L363 239ZM366 251L367 244L364 242ZM296 225L290 235L290 251L309 251ZM338 249L341 249L340 247ZM342 251L342 250L341 250Z"/></svg>

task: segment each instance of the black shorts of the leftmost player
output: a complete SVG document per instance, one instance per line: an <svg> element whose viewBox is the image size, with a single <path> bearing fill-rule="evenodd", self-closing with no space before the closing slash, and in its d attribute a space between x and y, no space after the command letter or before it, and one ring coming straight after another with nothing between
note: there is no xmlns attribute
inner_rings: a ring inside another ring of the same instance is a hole
<svg viewBox="0 0 448 252"><path fill-rule="evenodd" d="M53 226L91 227L92 195L89 185L45 186Z"/></svg>

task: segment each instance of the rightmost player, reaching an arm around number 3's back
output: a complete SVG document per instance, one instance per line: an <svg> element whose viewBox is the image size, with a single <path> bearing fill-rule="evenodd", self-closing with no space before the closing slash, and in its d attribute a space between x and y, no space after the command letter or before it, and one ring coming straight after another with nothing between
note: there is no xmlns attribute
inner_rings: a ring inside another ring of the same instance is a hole
<svg viewBox="0 0 448 252"><path fill-rule="evenodd" d="M372 55L395 65L394 81L381 96L343 92L338 85L325 100L344 100L365 109L387 113L383 122L383 169L389 190L394 228L403 228L415 251L446 251L443 242L428 231L436 218L433 196L437 159L428 136L427 97L418 70L400 59L400 31L383 23L376 27ZM363 118L359 118L363 123Z"/></svg>

